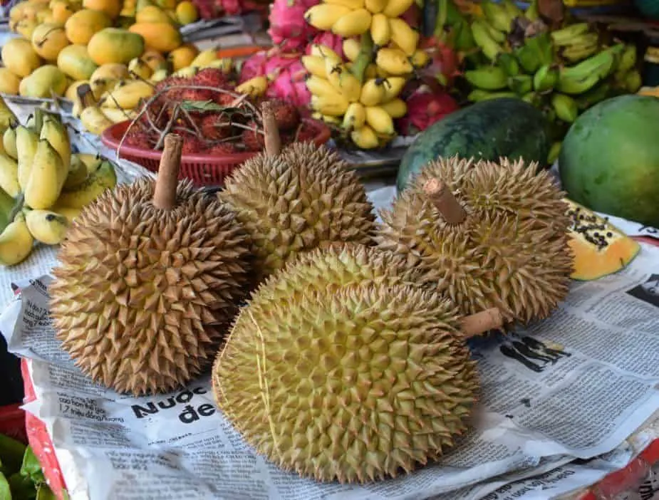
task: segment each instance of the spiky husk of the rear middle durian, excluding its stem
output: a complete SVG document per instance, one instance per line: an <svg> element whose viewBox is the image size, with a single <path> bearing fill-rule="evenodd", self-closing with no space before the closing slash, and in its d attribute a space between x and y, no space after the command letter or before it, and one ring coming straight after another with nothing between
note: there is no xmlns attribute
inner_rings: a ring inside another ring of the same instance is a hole
<svg viewBox="0 0 659 500"><path fill-rule="evenodd" d="M372 244L375 214L365 189L326 147L301 142L276 157L257 155L218 196L249 232L257 283L299 252L336 241Z"/></svg>

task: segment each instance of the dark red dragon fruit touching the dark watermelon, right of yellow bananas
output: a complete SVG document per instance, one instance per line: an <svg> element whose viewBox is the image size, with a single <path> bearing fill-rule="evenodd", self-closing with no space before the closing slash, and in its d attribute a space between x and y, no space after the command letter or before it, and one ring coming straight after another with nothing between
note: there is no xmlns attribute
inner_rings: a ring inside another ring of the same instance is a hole
<svg viewBox="0 0 659 500"><path fill-rule="evenodd" d="M459 108L446 90L432 90L427 85L418 85L411 95L404 98L408 105L408 114L396 120L396 130L400 135L422 132Z"/></svg>

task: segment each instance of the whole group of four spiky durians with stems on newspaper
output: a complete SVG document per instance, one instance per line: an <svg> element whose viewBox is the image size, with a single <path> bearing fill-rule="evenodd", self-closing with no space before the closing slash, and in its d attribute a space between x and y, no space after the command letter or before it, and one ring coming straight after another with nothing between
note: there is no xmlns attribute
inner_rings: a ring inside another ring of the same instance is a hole
<svg viewBox="0 0 659 500"><path fill-rule="evenodd" d="M211 370L217 405L264 457L318 481L373 481L468 432L467 338L549 316L568 291L563 194L537 165L428 165L375 222L333 152L266 150L217 197L157 181L102 194L61 246L51 318L83 373L118 392Z"/></svg>

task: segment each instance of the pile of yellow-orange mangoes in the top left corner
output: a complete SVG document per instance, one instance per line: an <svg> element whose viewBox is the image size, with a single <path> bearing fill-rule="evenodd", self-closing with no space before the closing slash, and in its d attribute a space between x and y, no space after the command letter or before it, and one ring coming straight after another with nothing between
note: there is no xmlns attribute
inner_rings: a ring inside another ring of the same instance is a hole
<svg viewBox="0 0 659 500"><path fill-rule="evenodd" d="M180 34L180 26L197 20L189 0L26 0L9 19L20 35L1 50L0 93L9 95L71 95L108 64L125 66L140 80L145 57L160 61L153 72L175 71L197 56Z"/></svg>

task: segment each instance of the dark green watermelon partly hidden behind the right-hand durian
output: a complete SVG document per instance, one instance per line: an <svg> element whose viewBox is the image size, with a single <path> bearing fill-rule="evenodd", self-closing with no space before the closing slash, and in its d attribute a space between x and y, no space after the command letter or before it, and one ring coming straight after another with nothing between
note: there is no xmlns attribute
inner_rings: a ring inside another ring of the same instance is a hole
<svg viewBox="0 0 659 500"><path fill-rule="evenodd" d="M545 166L551 147L549 123L529 103L516 98L484 100L451 113L424 130L403 156L396 186L403 191L428 162L438 157L500 157Z"/></svg>

